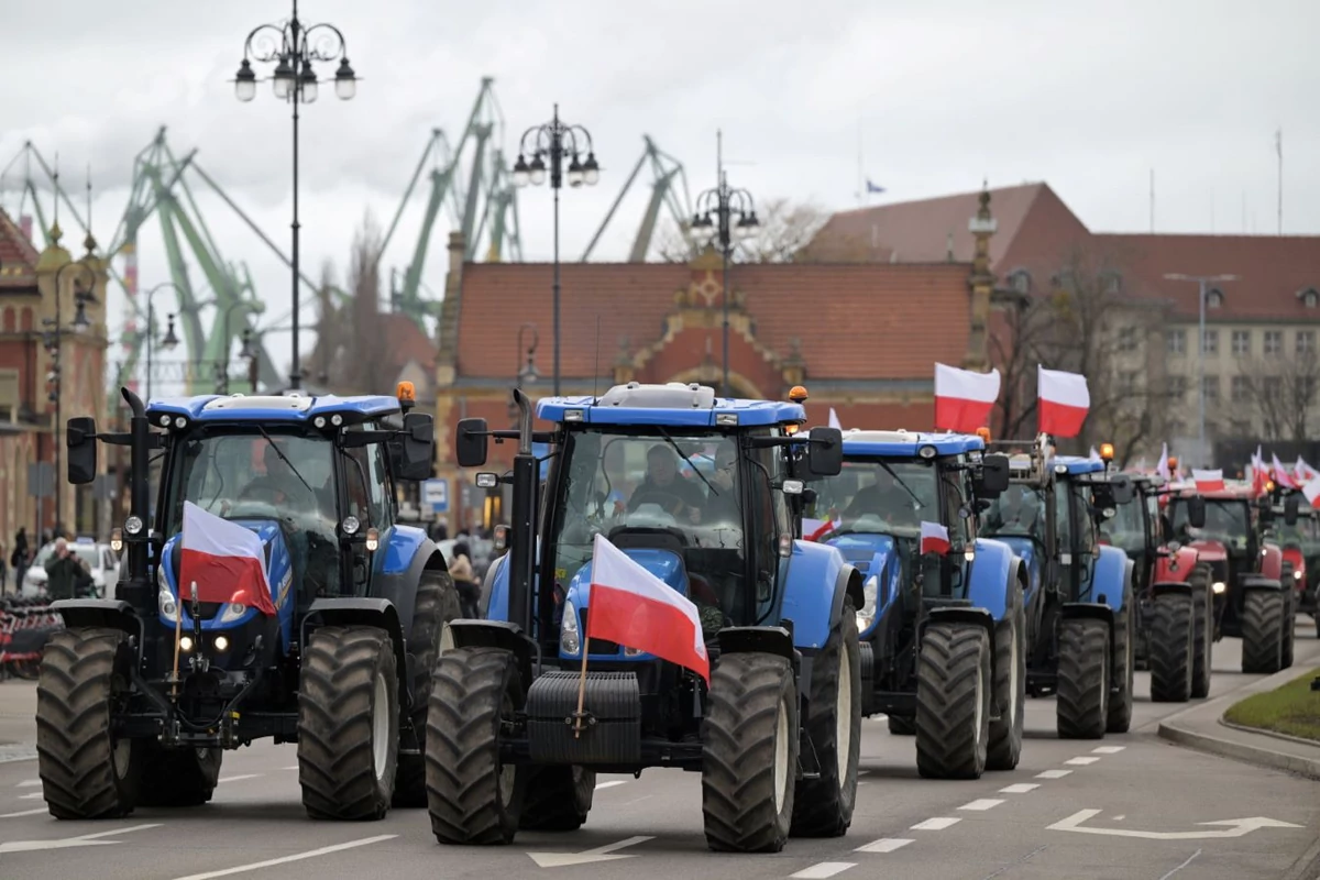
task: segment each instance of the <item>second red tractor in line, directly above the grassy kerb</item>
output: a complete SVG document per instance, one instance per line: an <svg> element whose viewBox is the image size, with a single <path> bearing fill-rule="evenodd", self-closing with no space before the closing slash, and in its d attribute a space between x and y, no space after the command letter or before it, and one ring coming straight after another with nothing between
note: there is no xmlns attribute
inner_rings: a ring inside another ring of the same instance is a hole
<svg viewBox="0 0 1320 880"><path fill-rule="evenodd" d="M1214 641L1242 639L1243 673L1291 666L1292 563L1266 536L1274 522L1270 496L1243 480L1226 480L1212 492L1181 486L1170 497L1168 517L1171 533L1209 563Z"/></svg>

